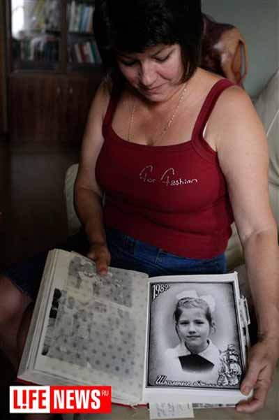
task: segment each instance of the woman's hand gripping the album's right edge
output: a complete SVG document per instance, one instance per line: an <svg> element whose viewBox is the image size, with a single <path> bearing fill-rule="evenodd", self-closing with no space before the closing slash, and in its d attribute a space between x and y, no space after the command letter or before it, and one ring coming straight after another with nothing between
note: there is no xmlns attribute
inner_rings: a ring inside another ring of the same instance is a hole
<svg viewBox="0 0 279 420"><path fill-rule="evenodd" d="M279 337L262 338L250 349L248 371L241 384L241 392L252 397L236 406L238 412L253 413L261 410L271 387L274 370L279 356Z"/></svg>

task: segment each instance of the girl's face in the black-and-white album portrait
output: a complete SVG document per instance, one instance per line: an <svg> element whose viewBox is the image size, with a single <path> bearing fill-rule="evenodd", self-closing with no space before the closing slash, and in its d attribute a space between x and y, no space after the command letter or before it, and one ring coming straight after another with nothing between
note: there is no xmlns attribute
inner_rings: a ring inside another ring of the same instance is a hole
<svg viewBox="0 0 279 420"><path fill-rule="evenodd" d="M208 346L207 338L211 328L204 310L198 307L183 308L176 327L179 338L191 353L203 352Z"/></svg>

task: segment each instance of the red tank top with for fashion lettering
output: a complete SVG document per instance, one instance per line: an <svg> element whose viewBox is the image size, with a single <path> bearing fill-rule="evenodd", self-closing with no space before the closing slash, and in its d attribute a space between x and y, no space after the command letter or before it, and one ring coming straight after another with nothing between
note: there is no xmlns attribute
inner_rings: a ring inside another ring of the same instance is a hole
<svg viewBox="0 0 279 420"><path fill-rule="evenodd" d="M216 82L199 112L190 141L129 143L112 129L120 93L112 92L103 122L96 180L105 192L105 224L180 256L207 259L225 251L232 208L217 153L203 138L211 110L227 87Z"/></svg>

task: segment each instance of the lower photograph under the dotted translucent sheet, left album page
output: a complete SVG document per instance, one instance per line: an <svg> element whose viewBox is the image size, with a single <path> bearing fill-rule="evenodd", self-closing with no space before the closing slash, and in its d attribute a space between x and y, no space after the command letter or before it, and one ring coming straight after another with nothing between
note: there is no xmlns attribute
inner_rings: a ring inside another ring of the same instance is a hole
<svg viewBox="0 0 279 420"><path fill-rule="evenodd" d="M128 311L107 305L54 289L43 356L131 377L136 352L134 321Z"/></svg>

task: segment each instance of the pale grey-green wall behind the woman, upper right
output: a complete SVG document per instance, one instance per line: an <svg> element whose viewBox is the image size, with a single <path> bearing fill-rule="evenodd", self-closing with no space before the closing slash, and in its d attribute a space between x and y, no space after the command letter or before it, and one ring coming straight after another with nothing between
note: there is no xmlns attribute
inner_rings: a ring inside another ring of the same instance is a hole
<svg viewBox="0 0 279 420"><path fill-rule="evenodd" d="M202 0L204 13L218 22L234 24L248 45L245 87L257 96L279 67L278 0Z"/></svg>

